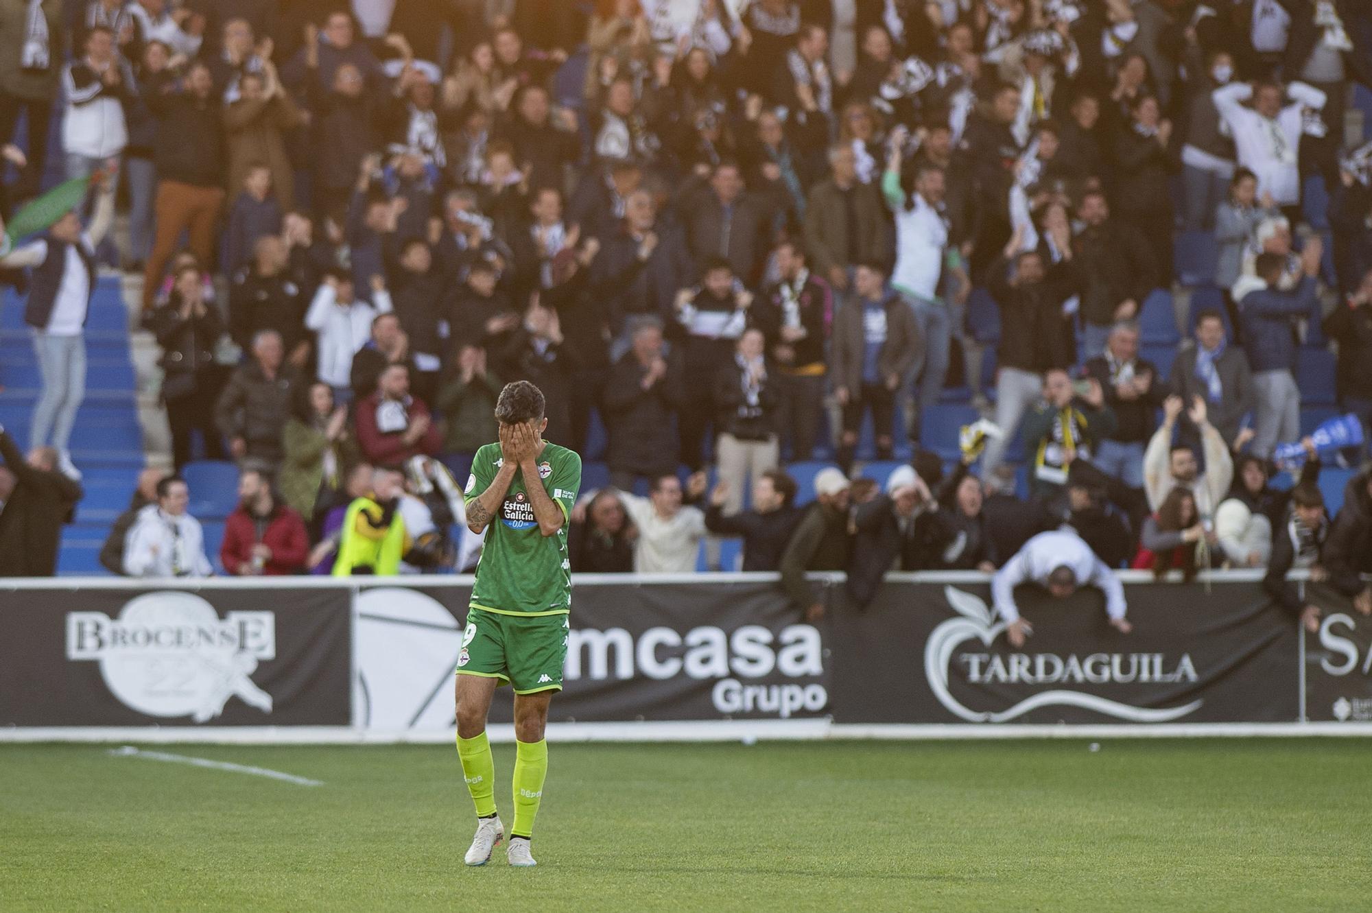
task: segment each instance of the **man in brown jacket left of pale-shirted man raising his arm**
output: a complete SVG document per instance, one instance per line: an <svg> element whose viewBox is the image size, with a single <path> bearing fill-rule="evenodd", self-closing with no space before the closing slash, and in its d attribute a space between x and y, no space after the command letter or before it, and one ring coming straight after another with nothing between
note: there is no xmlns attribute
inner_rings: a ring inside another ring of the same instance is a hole
<svg viewBox="0 0 1372 913"><path fill-rule="evenodd" d="M815 274L842 292L853 266L889 259L890 230L877 188L858 180L852 147L831 147L829 167L805 204L805 251Z"/></svg>

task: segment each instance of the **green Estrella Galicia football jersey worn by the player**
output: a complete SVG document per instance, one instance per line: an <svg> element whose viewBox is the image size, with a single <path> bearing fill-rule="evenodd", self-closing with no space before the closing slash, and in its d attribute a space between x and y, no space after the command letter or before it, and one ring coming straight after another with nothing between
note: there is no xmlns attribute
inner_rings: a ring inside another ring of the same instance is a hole
<svg viewBox="0 0 1372 913"><path fill-rule="evenodd" d="M466 503L490 488L501 463L501 446L476 451L466 480ZM571 611L572 566L567 554L567 526L576 489L582 485L582 458L557 444L543 446L538 474L549 496L563 507L567 521L554 536L538 529L534 506L524 488L524 474L514 473L505 502L486 528L486 544L476 565L472 605L490 611L553 616Z"/></svg>

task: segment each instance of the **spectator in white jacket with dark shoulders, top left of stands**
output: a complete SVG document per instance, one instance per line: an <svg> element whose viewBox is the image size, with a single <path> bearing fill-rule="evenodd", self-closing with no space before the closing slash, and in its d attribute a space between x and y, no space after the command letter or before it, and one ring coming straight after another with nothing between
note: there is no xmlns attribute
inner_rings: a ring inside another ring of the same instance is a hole
<svg viewBox="0 0 1372 913"><path fill-rule="evenodd" d="M62 89L67 96L62 117L66 175L85 177L118 159L129 143L125 106L136 97L137 84L113 32L95 27L86 33L85 56L67 64Z"/></svg>

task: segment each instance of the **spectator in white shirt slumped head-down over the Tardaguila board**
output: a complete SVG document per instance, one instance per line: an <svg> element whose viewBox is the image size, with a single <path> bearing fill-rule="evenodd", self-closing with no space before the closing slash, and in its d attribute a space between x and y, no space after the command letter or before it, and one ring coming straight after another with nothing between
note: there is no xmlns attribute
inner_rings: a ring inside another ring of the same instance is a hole
<svg viewBox="0 0 1372 913"><path fill-rule="evenodd" d="M1025 635L1029 633L1029 625L1019 616L1014 598L1015 587L1026 583L1039 584L1054 599L1066 599L1078 587L1098 587L1106 596L1110 626L1120 633L1133 631L1133 625L1125 618L1129 606L1125 603L1124 585L1114 572L1076 533L1045 532L1026 541L991 579L995 609L1004 618L1006 637L1015 650L1024 646Z"/></svg>

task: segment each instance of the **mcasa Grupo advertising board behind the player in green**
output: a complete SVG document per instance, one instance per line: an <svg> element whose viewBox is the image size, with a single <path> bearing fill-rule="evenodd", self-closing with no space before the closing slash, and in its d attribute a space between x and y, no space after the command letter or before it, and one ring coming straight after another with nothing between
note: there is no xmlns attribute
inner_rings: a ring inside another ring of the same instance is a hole
<svg viewBox="0 0 1372 913"><path fill-rule="evenodd" d="M358 595L361 725L453 725L465 585L366 587ZM549 720L727 720L829 711L826 648L772 581L578 583L564 691ZM491 720L508 722L509 691Z"/></svg>

